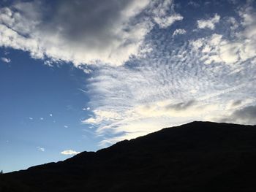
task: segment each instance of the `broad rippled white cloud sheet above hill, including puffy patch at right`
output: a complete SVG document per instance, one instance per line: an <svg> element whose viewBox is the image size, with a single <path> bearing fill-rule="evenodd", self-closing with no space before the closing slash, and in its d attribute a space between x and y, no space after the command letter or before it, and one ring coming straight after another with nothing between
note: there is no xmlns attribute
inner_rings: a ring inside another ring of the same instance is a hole
<svg viewBox="0 0 256 192"><path fill-rule="evenodd" d="M217 28L208 36L197 34L199 38L187 31L178 44L170 31L156 29L144 42L151 51L143 58L97 69L86 86L92 115L83 123L97 128L100 145L192 120L219 120L255 104L256 59L243 60L239 54L244 50L237 45L246 43L249 19L247 26L244 16L236 19L238 28ZM223 25L233 23L222 20Z"/></svg>

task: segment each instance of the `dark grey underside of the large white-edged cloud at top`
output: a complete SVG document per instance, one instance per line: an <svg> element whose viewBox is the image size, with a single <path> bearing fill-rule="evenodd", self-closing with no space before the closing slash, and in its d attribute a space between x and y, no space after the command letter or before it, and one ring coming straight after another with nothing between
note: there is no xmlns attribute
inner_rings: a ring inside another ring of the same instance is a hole
<svg viewBox="0 0 256 192"><path fill-rule="evenodd" d="M86 43L104 49L115 39L113 29L121 25L121 12L132 1L59 1L48 23L48 31L60 33L72 44Z"/></svg>

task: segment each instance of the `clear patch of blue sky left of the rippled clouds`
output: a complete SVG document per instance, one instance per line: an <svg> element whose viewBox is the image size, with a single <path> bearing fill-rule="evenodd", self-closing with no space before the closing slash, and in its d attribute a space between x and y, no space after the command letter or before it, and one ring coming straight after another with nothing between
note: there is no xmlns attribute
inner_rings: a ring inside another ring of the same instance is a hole
<svg viewBox="0 0 256 192"><path fill-rule="evenodd" d="M63 150L98 149L99 139L81 123L89 113L79 90L87 74L67 64L45 66L17 50L1 49L0 56L12 60L0 61L0 169L60 161L68 157Z"/></svg>

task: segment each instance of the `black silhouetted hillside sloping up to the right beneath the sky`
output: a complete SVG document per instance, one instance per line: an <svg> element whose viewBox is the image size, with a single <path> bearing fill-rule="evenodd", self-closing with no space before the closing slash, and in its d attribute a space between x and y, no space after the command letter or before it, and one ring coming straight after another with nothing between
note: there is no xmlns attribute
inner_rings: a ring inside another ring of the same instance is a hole
<svg viewBox="0 0 256 192"><path fill-rule="evenodd" d="M256 126L193 122L0 175L0 191L256 191Z"/></svg>

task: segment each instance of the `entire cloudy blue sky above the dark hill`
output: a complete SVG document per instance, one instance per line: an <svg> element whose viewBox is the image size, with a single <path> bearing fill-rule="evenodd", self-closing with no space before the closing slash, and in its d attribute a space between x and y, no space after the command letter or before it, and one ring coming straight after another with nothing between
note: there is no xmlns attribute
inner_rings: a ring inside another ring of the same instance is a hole
<svg viewBox="0 0 256 192"><path fill-rule="evenodd" d="M256 1L0 1L0 169L193 120L256 124Z"/></svg>

